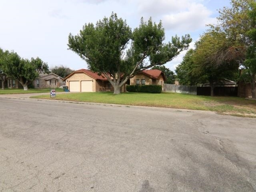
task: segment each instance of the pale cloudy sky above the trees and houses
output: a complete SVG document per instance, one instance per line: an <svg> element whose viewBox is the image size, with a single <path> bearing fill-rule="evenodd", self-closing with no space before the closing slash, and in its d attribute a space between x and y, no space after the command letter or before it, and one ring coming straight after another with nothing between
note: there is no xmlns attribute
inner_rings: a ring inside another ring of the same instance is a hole
<svg viewBox="0 0 256 192"><path fill-rule="evenodd" d="M115 12L133 29L141 17L152 16L154 22L162 20L167 42L176 34L190 34L194 42L224 6L230 0L0 0L0 48L23 58L38 56L50 68L78 70L87 64L67 50L68 34L78 34L85 23L95 24ZM184 54L165 66L174 71Z"/></svg>

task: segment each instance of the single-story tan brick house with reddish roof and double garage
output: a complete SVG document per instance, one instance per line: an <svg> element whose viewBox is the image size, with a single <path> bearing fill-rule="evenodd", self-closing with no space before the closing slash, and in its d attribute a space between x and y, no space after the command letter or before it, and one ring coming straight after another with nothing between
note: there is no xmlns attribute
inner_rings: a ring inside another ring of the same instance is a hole
<svg viewBox="0 0 256 192"><path fill-rule="evenodd" d="M113 87L107 78L98 73L94 73L87 69L74 71L66 78L66 86L71 92L104 92L113 91ZM166 80L164 73L160 70L144 70L129 79L126 84L131 85L163 85ZM125 86L121 88L121 92L125 92Z"/></svg>

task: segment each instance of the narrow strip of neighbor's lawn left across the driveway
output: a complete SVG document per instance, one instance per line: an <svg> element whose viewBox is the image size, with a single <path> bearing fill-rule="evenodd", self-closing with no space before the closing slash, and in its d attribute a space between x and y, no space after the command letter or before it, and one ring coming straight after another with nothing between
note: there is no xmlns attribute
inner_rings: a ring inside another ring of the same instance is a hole
<svg viewBox="0 0 256 192"><path fill-rule="evenodd" d="M63 89L61 88L55 88L57 92L63 92ZM24 91L23 89L5 89L0 90L0 94L23 94L23 93L50 93L50 88L44 88L44 89L28 89L27 91Z"/></svg>

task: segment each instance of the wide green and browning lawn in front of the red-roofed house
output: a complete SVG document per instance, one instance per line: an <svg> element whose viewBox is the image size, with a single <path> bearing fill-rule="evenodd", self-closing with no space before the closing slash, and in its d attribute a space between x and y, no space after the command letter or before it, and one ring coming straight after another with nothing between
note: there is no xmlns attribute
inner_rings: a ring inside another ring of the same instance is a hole
<svg viewBox="0 0 256 192"><path fill-rule="evenodd" d="M126 92L119 95L100 92L70 94L58 94L57 92L56 98L50 98L48 95L34 96L32 98L209 110L219 114L256 117L256 100L238 97L194 96L166 92L161 94Z"/></svg>

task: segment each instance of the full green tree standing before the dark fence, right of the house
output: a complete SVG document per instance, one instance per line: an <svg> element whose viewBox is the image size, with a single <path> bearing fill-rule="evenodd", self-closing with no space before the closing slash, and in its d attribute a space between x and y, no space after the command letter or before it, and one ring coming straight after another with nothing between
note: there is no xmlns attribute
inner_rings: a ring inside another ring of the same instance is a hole
<svg viewBox="0 0 256 192"><path fill-rule="evenodd" d="M220 55L222 48L228 43L224 32L209 30L196 42L196 48L190 49L183 61L176 67L177 77L181 84L197 85L209 83L211 96L214 87L222 80L233 80L238 74L237 62L217 63L216 57Z"/></svg>

